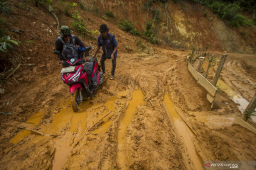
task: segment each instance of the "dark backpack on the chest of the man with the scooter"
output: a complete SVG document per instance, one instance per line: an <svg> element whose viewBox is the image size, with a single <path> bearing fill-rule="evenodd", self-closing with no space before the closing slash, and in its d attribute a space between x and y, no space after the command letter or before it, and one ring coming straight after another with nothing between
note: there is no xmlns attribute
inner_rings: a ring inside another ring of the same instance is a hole
<svg viewBox="0 0 256 170"><path fill-rule="evenodd" d="M58 37L58 39L63 43L62 55L65 60L78 57L78 50L76 49L74 35L71 35L70 43L65 43L61 37Z"/></svg>

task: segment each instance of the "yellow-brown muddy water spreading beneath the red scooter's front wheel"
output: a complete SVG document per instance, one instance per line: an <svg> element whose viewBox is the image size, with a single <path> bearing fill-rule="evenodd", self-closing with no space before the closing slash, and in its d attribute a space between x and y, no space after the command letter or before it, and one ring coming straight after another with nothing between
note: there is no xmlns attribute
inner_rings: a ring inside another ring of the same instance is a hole
<svg viewBox="0 0 256 170"><path fill-rule="evenodd" d="M65 128L65 125L69 125L70 129L65 133L63 137L60 139L55 139L55 158L53 160L53 170L63 169L65 163L68 161L70 155L72 154L74 145L82 138L82 135L85 135L85 130L90 127L88 125L88 118L92 117L92 115L96 115L95 113L99 113L102 108L107 107L108 111L114 111L114 101L121 97L125 96L128 91L123 91L117 96L112 96L108 99L107 102L102 104L97 104L95 106L92 105L91 101L84 101L79 106L79 111L74 113L72 108L67 108L60 113L55 115L53 118L53 123L51 124L50 129L57 128L58 130L62 130ZM89 108L92 108L88 111ZM97 116L97 120L100 120L107 111L104 111L102 115ZM63 118L60 118L63 115ZM107 121L107 118L104 118L104 123L100 125L99 128L94 130L94 133L101 134L102 132L106 132L108 128L110 128L111 122ZM95 120L95 121L97 121ZM71 122L69 122L71 121Z"/></svg>

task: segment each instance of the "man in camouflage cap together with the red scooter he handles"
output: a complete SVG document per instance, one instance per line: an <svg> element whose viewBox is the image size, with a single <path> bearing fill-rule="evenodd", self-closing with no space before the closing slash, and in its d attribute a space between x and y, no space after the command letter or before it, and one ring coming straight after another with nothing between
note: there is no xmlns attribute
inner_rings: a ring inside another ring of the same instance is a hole
<svg viewBox="0 0 256 170"><path fill-rule="evenodd" d="M71 35L73 31L68 26L62 26L60 30L61 36L55 40L54 54L60 57L63 64L60 79L70 86L71 106L76 112L82 100L92 96L103 83L103 74L96 57L86 63L82 60L84 53L86 60L89 60L91 47L86 47L77 36ZM77 49L76 45L80 47Z"/></svg>

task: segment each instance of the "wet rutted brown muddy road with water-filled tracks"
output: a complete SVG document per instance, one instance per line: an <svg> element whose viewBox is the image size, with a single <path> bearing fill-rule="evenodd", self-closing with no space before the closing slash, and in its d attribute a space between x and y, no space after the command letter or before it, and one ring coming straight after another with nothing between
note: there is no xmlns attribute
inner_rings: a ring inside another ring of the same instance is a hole
<svg viewBox="0 0 256 170"><path fill-rule="evenodd" d="M210 107L187 55L120 52L114 80L107 61L105 84L77 113L68 94L55 94L58 102L14 122L27 130L6 145L0 169L197 170L203 161L255 160L256 135L233 124L240 111L225 93Z"/></svg>

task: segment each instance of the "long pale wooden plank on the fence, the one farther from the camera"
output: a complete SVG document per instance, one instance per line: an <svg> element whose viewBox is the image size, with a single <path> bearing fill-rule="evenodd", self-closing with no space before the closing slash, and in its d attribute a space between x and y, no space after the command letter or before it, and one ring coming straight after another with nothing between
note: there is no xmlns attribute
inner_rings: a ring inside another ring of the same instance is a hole
<svg viewBox="0 0 256 170"><path fill-rule="evenodd" d="M211 84L210 81L204 78L200 73L196 72L196 69L194 69L190 63L188 63L188 70L191 72L196 81L198 81L198 83L201 84L206 91L208 91L210 96L215 97L217 91L215 86L213 86L213 84Z"/></svg>

